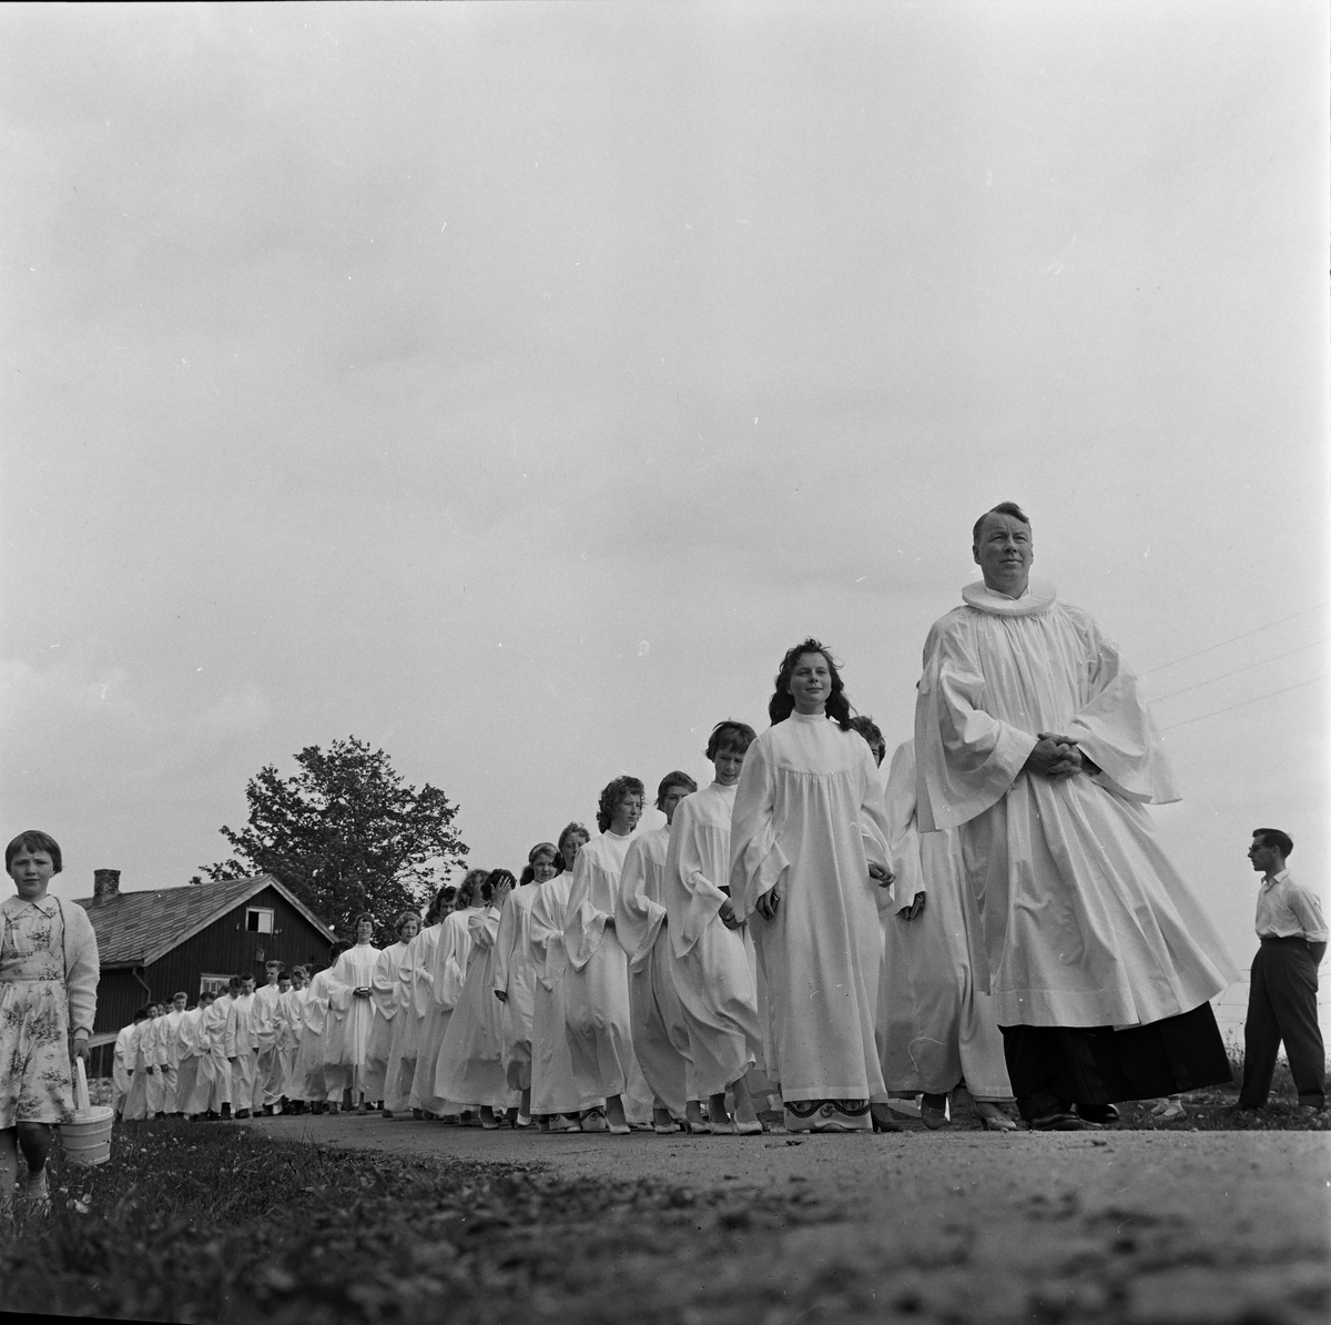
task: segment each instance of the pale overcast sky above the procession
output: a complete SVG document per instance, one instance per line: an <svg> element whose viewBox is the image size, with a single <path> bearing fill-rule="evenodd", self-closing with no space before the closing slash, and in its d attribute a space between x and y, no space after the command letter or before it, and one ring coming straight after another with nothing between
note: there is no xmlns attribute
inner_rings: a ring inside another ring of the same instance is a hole
<svg viewBox="0 0 1331 1325"><path fill-rule="evenodd" d="M354 734L518 870L784 650L889 747L994 502L1246 964L1327 807L1318 3L0 9L5 836ZM1182 692L1179 692L1182 691ZM1219 710L1229 710L1218 712Z"/></svg>

